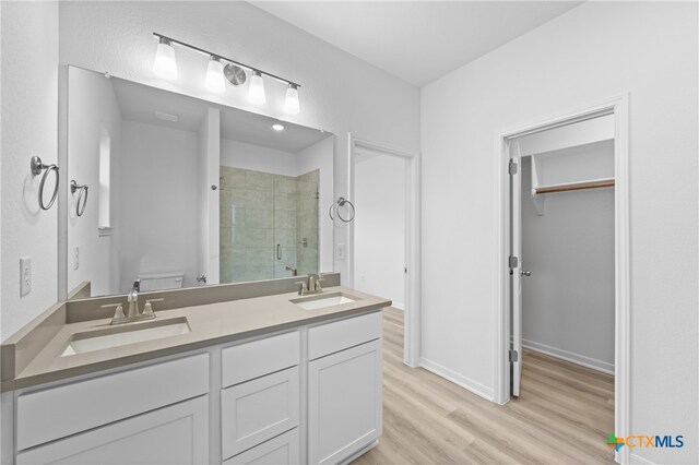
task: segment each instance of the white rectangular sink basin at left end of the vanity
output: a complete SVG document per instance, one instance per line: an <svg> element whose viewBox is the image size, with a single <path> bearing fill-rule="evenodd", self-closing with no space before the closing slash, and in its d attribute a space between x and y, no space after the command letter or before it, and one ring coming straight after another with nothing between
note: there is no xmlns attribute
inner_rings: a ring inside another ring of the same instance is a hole
<svg viewBox="0 0 699 465"><path fill-rule="evenodd" d="M190 333L187 318L153 320L75 334L61 357Z"/></svg>

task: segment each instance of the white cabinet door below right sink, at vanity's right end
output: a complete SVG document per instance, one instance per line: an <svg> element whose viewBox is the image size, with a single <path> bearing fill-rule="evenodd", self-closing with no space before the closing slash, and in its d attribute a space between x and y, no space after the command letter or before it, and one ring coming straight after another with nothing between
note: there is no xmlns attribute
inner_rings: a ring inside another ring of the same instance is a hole
<svg viewBox="0 0 699 465"><path fill-rule="evenodd" d="M381 436L381 339L308 363L308 460L334 464Z"/></svg>

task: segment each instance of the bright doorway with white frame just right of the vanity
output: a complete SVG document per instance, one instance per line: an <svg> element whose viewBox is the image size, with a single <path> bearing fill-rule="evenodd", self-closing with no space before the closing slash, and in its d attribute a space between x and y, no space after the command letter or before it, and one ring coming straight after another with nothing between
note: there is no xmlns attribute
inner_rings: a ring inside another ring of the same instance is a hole
<svg viewBox="0 0 699 465"><path fill-rule="evenodd" d="M393 302L404 325L403 361L419 362L419 159L350 134L347 284ZM401 321L399 321L401 320ZM389 319L390 321L390 319Z"/></svg>

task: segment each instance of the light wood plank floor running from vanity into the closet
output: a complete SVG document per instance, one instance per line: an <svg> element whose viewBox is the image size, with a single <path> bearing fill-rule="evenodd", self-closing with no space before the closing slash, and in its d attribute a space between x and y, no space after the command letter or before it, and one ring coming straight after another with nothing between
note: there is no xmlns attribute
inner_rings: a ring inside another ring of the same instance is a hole
<svg viewBox="0 0 699 465"><path fill-rule="evenodd" d="M403 365L403 313L383 313L383 436L354 464L612 464L614 377L524 353L522 394L493 404Z"/></svg>

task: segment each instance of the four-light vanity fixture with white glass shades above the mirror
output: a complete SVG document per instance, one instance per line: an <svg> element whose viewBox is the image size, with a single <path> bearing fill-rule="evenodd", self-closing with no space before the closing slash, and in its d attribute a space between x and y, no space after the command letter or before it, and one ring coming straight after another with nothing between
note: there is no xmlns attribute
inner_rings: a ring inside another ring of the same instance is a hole
<svg viewBox="0 0 699 465"><path fill-rule="evenodd" d="M300 84L268 73L248 64L212 53L203 48L196 47L191 44L164 36L163 34L153 33L158 38L157 52L153 62L153 71L169 80L177 79L177 62L175 61L174 44L180 47L189 48L209 57L209 68L206 69L206 78L204 85L211 92L224 92L226 90L225 80L227 79L232 85L241 85L245 83L245 70L252 73L250 84L248 86L248 100L254 105L264 105L266 96L264 93L263 78L271 78L275 81L287 85L286 98L284 99L284 111L288 115L298 115L300 112L300 104L298 99L298 88ZM224 62L225 68L224 68ZM224 75L225 74L225 75Z"/></svg>

